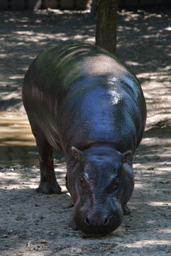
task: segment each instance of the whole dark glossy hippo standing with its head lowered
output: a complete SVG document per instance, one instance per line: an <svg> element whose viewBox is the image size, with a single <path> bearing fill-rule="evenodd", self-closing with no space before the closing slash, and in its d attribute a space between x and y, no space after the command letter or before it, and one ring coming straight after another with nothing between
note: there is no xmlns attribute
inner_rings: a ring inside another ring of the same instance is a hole
<svg viewBox="0 0 171 256"><path fill-rule="evenodd" d="M146 107L138 80L114 55L83 43L40 53L23 82L23 105L40 154L42 193L61 193L53 148L67 159L72 226L105 235L118 228L133 192L133 154Z"/></svg>

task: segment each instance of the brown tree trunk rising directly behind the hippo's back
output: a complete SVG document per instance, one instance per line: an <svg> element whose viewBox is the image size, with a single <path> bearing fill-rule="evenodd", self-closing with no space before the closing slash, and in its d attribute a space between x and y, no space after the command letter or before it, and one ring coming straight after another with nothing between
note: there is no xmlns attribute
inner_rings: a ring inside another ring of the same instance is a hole
<svg viewBox="0 0 171 256"><path fill-rule="evenodd" d="M96 46L116 51L116 16L118 0L98 0L96 11Z"/></svg>

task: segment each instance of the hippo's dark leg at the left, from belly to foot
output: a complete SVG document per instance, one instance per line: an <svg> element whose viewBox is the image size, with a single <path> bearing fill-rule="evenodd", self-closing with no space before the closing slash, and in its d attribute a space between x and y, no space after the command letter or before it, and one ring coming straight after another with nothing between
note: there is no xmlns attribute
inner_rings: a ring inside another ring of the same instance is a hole
<svg viewBox="0 0 171 256"><path fill-rule="evenodd" d="M31 122L31 119L29 121ZM31 129L38 146L40 161L40 185L36 188L36 191L41 193L62 193L55 177L53 147L48 143L38 124L31 122Z"/></svg>

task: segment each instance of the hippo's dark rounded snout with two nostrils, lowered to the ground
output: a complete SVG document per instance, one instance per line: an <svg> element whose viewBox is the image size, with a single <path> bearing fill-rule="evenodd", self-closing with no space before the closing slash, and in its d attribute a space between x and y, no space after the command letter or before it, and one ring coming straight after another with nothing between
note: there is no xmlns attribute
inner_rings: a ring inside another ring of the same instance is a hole
<svg viewBox="0 0 171 256"><path fill-rule="evenodd" d="M78 213L78 212L77 212ZM122 211L115 213L89 212L74 216L77 228L87 235L106 235L116 230L123 219Z"/></svg>

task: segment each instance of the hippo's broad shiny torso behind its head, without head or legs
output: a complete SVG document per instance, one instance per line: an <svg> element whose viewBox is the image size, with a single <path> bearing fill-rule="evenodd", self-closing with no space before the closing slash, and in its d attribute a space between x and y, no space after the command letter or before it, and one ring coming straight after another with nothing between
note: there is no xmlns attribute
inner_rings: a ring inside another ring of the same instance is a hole
<svg viewBox="0 0 171 256"><path fill-rule="evenodd" d="M93 143L118 145L127 135L135 150L145 125L136 77L111 53L84 43L62 43L40 53L26 74L23 103L48 130L53 146L60 138L65 152L72 144L80 149Z"/></svg>

